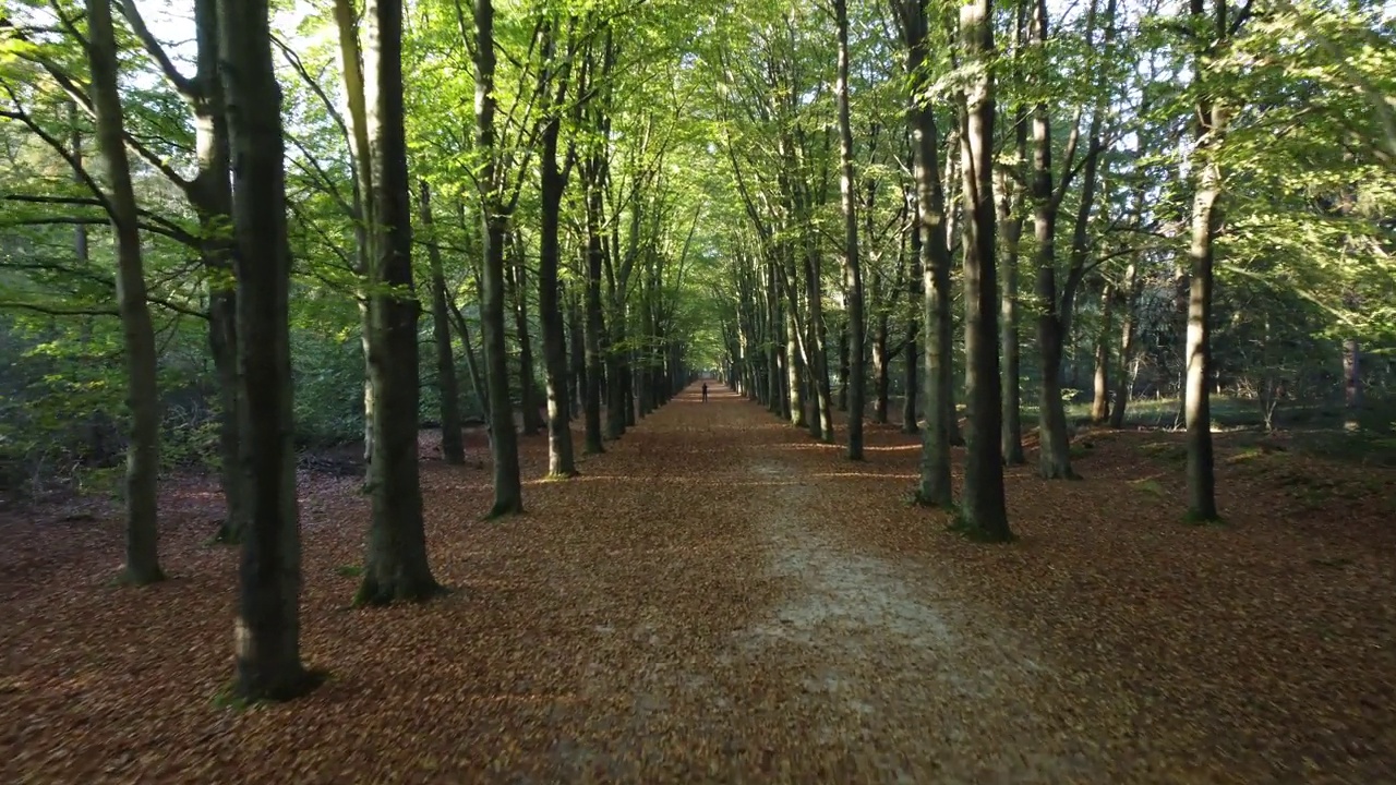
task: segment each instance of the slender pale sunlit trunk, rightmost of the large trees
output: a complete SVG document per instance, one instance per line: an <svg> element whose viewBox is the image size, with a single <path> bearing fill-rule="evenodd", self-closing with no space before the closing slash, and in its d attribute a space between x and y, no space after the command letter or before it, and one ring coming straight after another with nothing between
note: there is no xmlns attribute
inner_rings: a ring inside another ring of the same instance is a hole
<svg viewBox="0 0 1396 785"><path fill-rule="evenodd" d="M1226 0L1216 1L1216 14L1208 18L1206 0L1191 0L1189 10L1199 22L1213 24L1213 39L1199 47L1196 74L1206 80L1215 47L1223 43L1230 25ZM1227 115L1222 101L1210 95L1206 84L1199 91L1196 145L1196 196L1192 201L1192 246L1189 260L1188 291L1188 342L1187 342L1187 391L1184 415L1188 434L1187 497L1188 518L1192 521L1215 521L1219 518L1216 501L1216 475L1212 455L1212 399L1208 381L1212 379L1212 267L1216 260L1216 233L1222 223L1222 163L1217 161L1222 140L1226 134Z"/></svg>

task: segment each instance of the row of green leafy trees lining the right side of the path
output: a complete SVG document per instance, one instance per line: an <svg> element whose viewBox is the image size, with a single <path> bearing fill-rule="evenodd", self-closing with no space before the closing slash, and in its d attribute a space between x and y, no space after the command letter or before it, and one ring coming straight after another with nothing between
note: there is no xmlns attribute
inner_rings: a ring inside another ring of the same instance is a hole
<svg viewBox="0 0 1396 785"><path fill-rule="evenodd" d="M951 506L960 331L959 511L1007 539L1002 465L1025 461L1023 376L1037 381L1040 475L1076 476L1061 380L1086 318L1099 422L1124 423L1132 362L1175 348L1164 373L1185 399L1188 514L1216 518L1219 317L1240 356L1228 374L1259 374L1272 399L1277 369L1322 341L1330 386L1356 399L1358 345L1393 337L1396 28L1381 14L829 0L733 21L712 53L745 217L727 265L726 373L826 441L846 408L859 460L864 352L881 422L900 353L905 427L924 412L917 497ZM832 286L831 254L843 258Z"/></svg>

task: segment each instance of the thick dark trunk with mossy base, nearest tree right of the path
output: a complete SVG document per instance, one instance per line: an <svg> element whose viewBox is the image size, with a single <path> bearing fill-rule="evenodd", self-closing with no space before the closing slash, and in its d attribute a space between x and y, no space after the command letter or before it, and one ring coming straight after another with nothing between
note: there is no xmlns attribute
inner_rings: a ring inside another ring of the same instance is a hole
<svg viewBox="0 0 1396 785"><path fill-rule="evenodd" d="M965 59L976 67L965 89L960 176L965 183L965 388L969 437L960 522L974 536L1012 539L1000 451L998 288L994 270L994 56L993 1L960 7Z"/></svg>

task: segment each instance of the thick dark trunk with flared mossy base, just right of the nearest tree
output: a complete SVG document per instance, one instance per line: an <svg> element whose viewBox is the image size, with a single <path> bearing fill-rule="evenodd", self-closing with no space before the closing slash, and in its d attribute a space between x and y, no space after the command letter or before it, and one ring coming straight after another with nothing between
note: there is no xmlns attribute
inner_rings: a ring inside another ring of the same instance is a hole
<svg viewBox="0 0 1396 785"><path fill-rule="evenodd" d="M356 605L420 602L441 587L427 563L417 462L417 299L412 279L412 184L402 96L402 0L364 4L364 106L377 223L369 277L373 330L371 518Z"/></svg>

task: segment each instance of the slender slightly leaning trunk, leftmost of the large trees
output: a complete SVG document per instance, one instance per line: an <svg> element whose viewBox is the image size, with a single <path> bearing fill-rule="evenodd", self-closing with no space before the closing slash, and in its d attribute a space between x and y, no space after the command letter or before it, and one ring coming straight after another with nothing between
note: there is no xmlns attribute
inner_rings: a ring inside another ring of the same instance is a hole
<svg viewBox="0 0 1396 785"><path fill-rule="evenodd" d="M145 268L131 165L126 155L126 123L117 88L116 32L110 0L87 0L88 59L96 142L110 183L107 214L116 235L116 299L126 351L126 406L130 441L126 448L126 566L121 581L147 585L165 580L159 563L156 482L161 471L161 398L156 387L155 328L145 302Z"/></svg>

